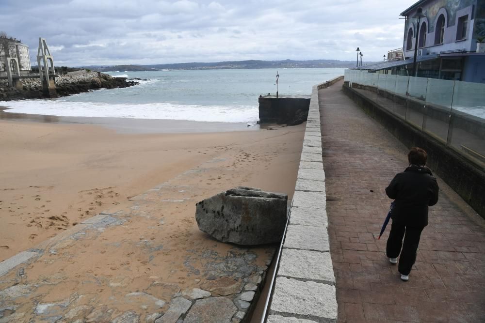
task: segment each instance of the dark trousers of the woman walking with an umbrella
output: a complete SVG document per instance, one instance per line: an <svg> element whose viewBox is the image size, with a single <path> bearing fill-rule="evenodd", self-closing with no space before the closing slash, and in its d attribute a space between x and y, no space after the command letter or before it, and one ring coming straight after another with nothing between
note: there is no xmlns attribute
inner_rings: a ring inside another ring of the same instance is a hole
<svg viewBox="0 0 485 323"><path fill-rule="evenodd" d="M401 253L398 269L403 275L409 275L411 268L416 262L416 252L420 245L423 229L424 227L409 227L392 221L386 254L389 258L397 258ZM403 250L401 250L401 247L403 247Z"/></svg>

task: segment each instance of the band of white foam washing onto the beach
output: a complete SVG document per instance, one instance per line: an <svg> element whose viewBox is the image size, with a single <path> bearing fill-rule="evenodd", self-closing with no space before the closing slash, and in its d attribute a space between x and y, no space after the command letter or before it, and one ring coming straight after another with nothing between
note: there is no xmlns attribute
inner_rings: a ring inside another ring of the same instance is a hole
<svg viewBox="0 0 485 323"><path fill-rule="evenodd" d="M63 99L0 102L8 112L70 117L118 117L135 119L191 120L203 122L255 123L256 106L201 106L171 103L107 104Z"/></svg>

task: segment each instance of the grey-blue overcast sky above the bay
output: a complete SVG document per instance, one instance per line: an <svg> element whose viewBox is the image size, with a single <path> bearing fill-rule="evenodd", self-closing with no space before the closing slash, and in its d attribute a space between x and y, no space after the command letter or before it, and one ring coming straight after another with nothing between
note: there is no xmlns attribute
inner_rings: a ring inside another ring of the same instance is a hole
<svg viewBox="0 0 485 323"><path fill-rule="evenodd" d="M0 31L47 39L56 65L380 61L416 0L0 0Z"/></svg>

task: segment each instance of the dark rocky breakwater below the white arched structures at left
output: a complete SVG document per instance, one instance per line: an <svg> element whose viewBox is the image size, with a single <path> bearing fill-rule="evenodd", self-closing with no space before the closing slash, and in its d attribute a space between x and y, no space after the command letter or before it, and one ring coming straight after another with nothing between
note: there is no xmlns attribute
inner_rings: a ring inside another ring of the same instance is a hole
<svg viewBox="0 0 485 323"><path fill-rule="evenodd" d="M40 99L44 98L39 78L23 78L22 90L8 86L6 80L0 80L0 101ZM66 74L56 77L56 91L58 96L88 92L98 89L127 88L138 84L127 80L126 77L112 77L100 72L85 72Z"/></svg>

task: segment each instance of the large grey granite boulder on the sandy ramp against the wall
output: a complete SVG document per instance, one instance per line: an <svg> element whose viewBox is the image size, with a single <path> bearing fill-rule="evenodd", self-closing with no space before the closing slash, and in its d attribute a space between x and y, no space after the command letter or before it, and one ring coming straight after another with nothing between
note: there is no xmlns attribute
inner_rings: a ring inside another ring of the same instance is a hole
<svg viewBox="0 0 485 323"><path fill-rule="evenodd" d="M279 242L288 195L239 186L196 204L199 229L222 242L254 246Z"/></svg>

